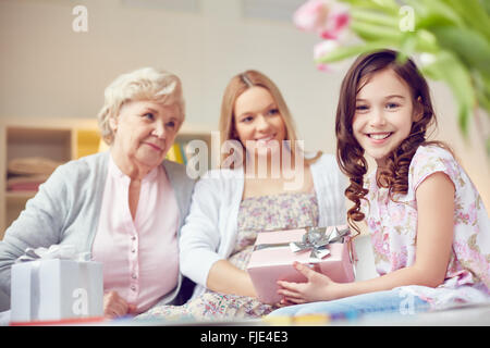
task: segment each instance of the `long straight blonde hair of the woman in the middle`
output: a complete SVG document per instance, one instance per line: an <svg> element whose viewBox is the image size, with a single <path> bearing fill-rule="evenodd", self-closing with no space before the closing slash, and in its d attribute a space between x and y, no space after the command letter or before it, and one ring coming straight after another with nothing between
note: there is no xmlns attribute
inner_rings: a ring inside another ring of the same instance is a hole
<svg viewBox="0 0 490 348"><path fill-rule="evenodd" d="M220 117L220 135L221 135L221 145L226 140L236 140L240 141L238 135L236 134L235 128L235 114L234 107L236 99L248 88L252 87L262 87L266 88L272 96L272 99L275 101L278 110L284 121L284 125L286 128L285 140L291 141L291 152L294 158L295 152L297 150L296 147L296 128L294 125L293 117L291 116L291 112L284 101L284 98L281 95L281 91L275 86L275 84L262 73L248 70L244 73L237 74L234 76L226 86L224 90L222 103L221 103L221 117ZM242 144L242 147L245 148L245 145ZM221 164L225 161L225 159L230 154L223 153L221 154ZM316 160L317 158L315 158ZM245 157L243 157L245 161ZM310 162L305 159L305 162Z"/></svg>

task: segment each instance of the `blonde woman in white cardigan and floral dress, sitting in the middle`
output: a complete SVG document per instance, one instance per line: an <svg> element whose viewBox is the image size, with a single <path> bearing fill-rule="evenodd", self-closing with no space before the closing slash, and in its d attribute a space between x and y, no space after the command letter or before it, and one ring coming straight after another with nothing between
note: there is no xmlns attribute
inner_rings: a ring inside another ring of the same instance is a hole
<svg viewBox="0 0 490 348"><path fill-rule="evenodd" d="M278 87L246 71L229 83L221 108L222 169L195 187L181 234L181 270L197 283L183 307L150 315L194 320L257 318L260 303L245 271L257 233L345 223L346 182L335 158L306 156ZM299 178L299 179L298 179Z"/></svg>

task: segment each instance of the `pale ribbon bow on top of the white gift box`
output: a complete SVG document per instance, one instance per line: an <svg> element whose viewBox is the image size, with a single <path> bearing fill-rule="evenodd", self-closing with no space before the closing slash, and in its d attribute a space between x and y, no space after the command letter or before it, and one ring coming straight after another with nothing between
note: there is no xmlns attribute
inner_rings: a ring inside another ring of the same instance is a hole
<svg viewBox="0 0 490 348"><path fill-rule="evenodd" d="M76 248L71 245L52 245L49 248L26 248L24 254L19 257L15 262L27 262L35 260L74 260L74 261L89 261L90 252L78 253Z"/></svg>

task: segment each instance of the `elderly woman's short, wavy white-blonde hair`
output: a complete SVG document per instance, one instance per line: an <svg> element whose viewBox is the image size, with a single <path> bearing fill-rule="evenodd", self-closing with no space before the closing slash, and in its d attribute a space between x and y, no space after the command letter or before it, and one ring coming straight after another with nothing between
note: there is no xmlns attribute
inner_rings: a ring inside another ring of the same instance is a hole
<svg viewBox="0 0 490 348"><path fill-rule="evenodd" d="M182 83L176 75L154 67L123 74L106 88L103 107L97 116L102 138L108 145L112 144L114 137L109 120L119 116L124 103L139 100L164 105L177 104L182 120L185 117Z"/></svg>

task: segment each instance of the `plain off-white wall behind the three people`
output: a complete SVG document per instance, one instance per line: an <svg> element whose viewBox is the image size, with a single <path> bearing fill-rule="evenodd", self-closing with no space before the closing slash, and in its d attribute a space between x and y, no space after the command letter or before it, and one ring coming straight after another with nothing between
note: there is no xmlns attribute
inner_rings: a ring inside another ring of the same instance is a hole
<svg viewBox="0 0 490 348"><path fill-rule="evenodd" d="M72 29L76 4L88 10L87 33ZM245 20L240 0L201 0L200 8L193 14L127 8L119 0L0 1L0 117L95 117L115 76L154 65L181 76L186 122L217 128L228 80L257 69L281 88L306 148L334 152L345 69L316 71L316 37L291 22ZM451 92L431 86L439 138L455 148L488 208L489 161L475 124L465 144Z"/></svg>

